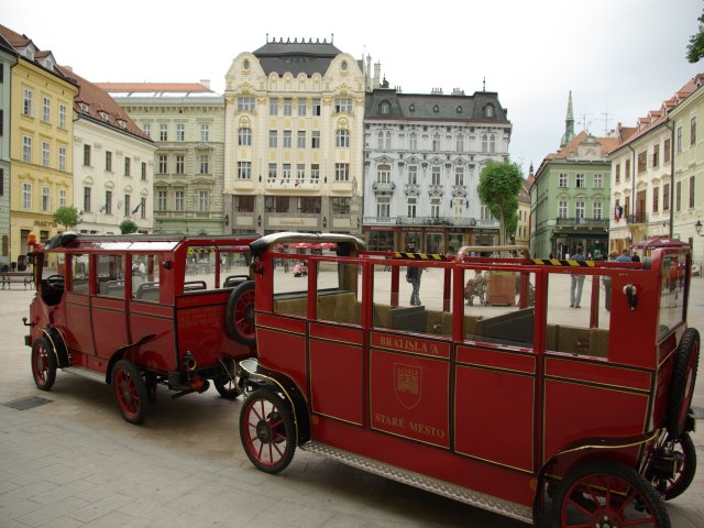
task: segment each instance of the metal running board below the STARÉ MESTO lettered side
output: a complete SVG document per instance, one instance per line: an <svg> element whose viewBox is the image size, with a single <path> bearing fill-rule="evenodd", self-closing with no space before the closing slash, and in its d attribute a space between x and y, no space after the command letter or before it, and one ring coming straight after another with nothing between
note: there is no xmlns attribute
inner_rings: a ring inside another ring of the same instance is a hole
<svg viewBox="0 0 704 528"><path fill-rule="evenodd" d="M470 506L494 512L506 517L522 520L524 522L532 524L532 512L528 506L521 504L512 503L502 498L493 497L484 493L475 492L466 487L458 486L449 482L440 481L431 476L421 475L414 471L404 470L395 465L385 464L377 460L367 459L359 454L343 451L341 449L332 448L323 443L310 441L304 446L299 446L304 451L310 453L322 454L330 459L334 459L343 464L359 468L360 470L374 473L375 475L385 476L396 482L407 484L419 490L442 495L443 497L459 501Z"/></svg>

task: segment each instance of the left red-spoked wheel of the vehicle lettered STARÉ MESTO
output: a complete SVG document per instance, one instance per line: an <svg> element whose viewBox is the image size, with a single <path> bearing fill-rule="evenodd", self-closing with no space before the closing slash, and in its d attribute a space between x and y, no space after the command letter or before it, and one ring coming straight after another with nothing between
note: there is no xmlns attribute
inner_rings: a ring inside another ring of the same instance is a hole
<svg viewBox="0 0 704 528"><path fill-rule="evenodd" d="M240 414L240 439L257 470L278 473L296 450L294 416L288 404L268 388L257 388Z"/></svg>

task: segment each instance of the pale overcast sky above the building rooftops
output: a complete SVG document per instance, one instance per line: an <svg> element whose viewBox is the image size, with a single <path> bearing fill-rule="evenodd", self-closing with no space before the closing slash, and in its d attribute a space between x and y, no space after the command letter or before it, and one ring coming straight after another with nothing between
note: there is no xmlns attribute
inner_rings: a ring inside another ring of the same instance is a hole
<svg viewBox="0 0 704 528"><path fill-rule="evenodd" d="M658 109L688 79L702 0L283 1L0 0L0 23L94 82L195 82L224 90L241 52L273 37L330 38L370 54L406 94L498 92L524 170L556 152L572 90L594 135Z"/></svg>

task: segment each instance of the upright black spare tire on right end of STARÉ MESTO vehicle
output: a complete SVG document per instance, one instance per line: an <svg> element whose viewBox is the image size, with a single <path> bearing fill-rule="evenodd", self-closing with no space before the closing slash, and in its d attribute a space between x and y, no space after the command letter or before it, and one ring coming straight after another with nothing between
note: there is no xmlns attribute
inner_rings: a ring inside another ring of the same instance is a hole
<svg viewBox="0 0 704 528"><path fill-rule="evenodd" d="M686 415L692 405L696 370L700 361L700 332L688 328L674 352L674 366L670 378L666 428L673 437L684 433Z"/></svg>

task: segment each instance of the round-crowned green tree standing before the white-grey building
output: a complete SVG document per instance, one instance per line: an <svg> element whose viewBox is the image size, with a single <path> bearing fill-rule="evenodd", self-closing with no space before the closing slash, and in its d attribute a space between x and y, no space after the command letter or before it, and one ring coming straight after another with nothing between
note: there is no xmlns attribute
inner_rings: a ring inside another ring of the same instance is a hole
<svg viewBox="0 0 704 528"><path fill-rule="evenodd" d="M480 175L477 191L492 216L498 219L499 244L505 244L507 232L516 231L518 221L518 193L524 180L516 163L490 160Z"/></svg>

